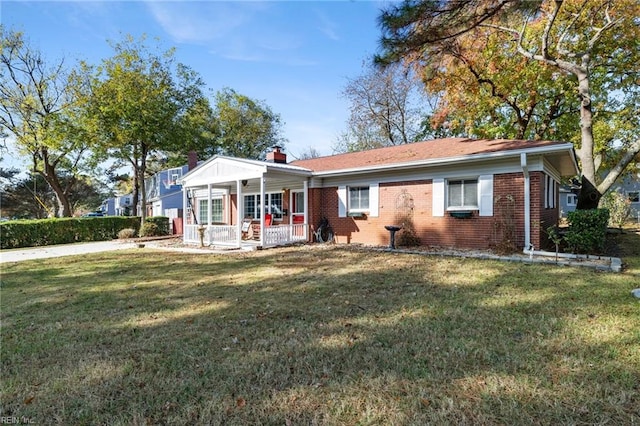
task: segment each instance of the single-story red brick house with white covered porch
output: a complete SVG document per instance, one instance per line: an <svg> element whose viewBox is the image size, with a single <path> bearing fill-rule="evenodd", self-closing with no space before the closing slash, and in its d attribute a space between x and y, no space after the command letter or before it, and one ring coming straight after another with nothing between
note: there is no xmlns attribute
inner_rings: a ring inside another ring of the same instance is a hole
<svg viewBox="0 0 640 426"><path fill-rule="evenodd" d="M385 226L404 225L422 245L539 249L558 182L577 173L573 146L550 141L449 138L289 164L277 147L267 161L215 156L182 178L184 241L199 243L199 228L208 244L239 247L249 228L260 246L310 241L327 218L339 243L386 245Z"/></svg>

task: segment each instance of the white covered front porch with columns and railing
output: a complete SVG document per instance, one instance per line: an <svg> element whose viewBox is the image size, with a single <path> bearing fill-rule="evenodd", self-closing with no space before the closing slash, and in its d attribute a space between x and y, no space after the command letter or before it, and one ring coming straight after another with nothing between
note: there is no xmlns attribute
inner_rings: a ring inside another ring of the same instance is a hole
<svg viewBox="0 0 640 426"><path fill-rule="evenodd" d="M300 167L216 156L182 179L186 244L275 247L309 240Z"/></svg>

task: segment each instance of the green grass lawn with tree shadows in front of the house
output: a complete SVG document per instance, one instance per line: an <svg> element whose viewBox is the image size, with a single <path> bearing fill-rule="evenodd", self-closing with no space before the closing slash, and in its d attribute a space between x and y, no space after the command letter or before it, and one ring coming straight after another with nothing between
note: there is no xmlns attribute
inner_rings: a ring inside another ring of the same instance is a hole
<svg viewBox="0 0 640 426"><path fill-rule="evenodd" d="M623 274L341 247L6 264L0 415L640 424L640 237L621 239Z"/></svg>

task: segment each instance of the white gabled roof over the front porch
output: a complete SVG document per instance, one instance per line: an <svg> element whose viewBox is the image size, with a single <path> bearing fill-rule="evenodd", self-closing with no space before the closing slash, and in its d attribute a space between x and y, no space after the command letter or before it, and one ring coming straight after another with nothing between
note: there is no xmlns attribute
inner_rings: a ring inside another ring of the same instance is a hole
<svg viewBox="0 0 640 426"><path fill-rule="evenodd" d="M183 186L228 185L239 180L259 179L265 175L280 178L307 178L311 170L268 161L216 155L198 165L179 180Z"/></svg>

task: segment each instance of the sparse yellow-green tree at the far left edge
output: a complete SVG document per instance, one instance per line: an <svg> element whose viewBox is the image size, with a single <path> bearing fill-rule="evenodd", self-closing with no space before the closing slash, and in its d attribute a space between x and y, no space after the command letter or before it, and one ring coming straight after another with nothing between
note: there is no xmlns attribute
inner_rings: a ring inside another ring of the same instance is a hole
<svg viewBox="0 0 640 426"><path fill-rule="evenodd" d="M68 137L66 114L74 107L64 60L48 66L19 32L0 27L0 133L31 157L32 171L55 194L58 216L73 213L69 194L86 147ZM63 183L61 174L67 175Z"/></svg>

